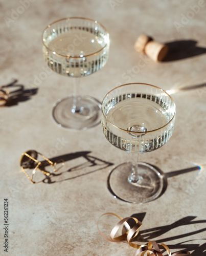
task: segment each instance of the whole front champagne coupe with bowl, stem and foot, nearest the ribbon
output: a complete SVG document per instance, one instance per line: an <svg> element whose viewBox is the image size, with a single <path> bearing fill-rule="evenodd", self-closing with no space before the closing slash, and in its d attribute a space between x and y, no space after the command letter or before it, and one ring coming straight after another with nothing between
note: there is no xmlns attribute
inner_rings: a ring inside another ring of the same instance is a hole
<svg viewBox="0 0 206 256"><path fill-rule="evenodd" d="M150 84L123 84L104 97L104 136L133 156L131 162L121 163L110 172L108 186L117 198L145 203L161 194L164 176L154 166L138 162L138 156L163 146L172 136L174 120L175 103L171 96Z"/></svg>

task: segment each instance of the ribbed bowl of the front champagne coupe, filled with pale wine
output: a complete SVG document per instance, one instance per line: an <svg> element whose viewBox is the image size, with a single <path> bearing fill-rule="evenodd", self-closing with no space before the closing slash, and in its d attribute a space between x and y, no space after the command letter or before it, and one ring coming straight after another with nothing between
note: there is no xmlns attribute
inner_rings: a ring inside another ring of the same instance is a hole
<svg viewBox="0 0 206 256"><path fill-rule="evenodd" d="M155 86L125 84L110 91L102 102L106 139L127 152L145 153L163 146L172 136L175 103Z"/></svg>

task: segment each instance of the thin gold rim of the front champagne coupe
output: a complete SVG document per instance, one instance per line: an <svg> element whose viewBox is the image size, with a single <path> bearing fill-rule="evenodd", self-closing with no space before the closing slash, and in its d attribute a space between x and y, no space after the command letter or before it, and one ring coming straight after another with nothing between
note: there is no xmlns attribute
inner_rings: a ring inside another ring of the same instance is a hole
<svg viewBox="0 0 206 256"><path fill-rule="evenodd" d="M113 88L111 91L109 91L109 92L104 96L104 98L103 98L103 100L102 100L102 105L103 105L104 99L105 99L112 91L115 91L116 89L118 89L118 88L120 88L120 87L123 87L123 86L129 86L129 85L131 85L131 84L143 84L143 85L145 85L145 86L151 86L151 87L154 87L154 88L156 88L156 89L158 89L158 90L161 90L163 93L165 93L166 95L169 96L169 98L171 99L171 101L172 101L172 103L173 103L173 105L174 105L174 114L173 114L172 118L170 119L170 121L169 121L168 123L166 123L165 125L159 127L158 129L151 130L151 131L147 131L147 132L134 132L134 131L132 131L133 134L147 134L147 133L156 132L156 131L158 131L158 130L163 129L163 128L166 127L169 123L172 122L172 120L173 120L174 117L175 117L175 103L174 103L174 100L172 99L172 97L171 97L166 91L164 91L163 89L161 89L161 88L159 88L159 87L157 87L157 86L153 86L152 84L149 84L149 83L141 83L141 82L135 82L135 83L134 83L134 82L133 82L133 83L122 84L121 86L118 86L118 87L116 87L116 88ZM124 129L122 129L122 128L116 126L115 124L111 123L111 122L105 117L105 115L104 115L104 113L103 113L103 108L102 108L102 114L103 114L104 118L106 119L106 121L107 121L108 123L110 123L113 127L116 127L117 129L119 129L119 130L121 130L121 131L124 131L124 132L127 132L127 133L129 132L128 130L124 130Z"/></svg>

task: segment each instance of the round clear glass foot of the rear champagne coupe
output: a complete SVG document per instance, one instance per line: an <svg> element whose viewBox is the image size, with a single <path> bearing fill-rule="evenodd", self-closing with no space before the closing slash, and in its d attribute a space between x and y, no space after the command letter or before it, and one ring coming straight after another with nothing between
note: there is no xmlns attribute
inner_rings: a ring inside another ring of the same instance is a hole
<svg viewBox="0 0 206 256"><path fill-rule="evenodd" d="M90 96L69 96L58 100L53 108L53 117L59 126L86 130L100 123L101 103Z"/></svg>

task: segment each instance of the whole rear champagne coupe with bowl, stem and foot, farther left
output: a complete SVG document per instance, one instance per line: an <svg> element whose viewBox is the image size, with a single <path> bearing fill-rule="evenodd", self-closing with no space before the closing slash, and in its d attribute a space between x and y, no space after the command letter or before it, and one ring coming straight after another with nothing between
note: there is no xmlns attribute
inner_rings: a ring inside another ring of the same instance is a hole
<svg viewBox="0 0 206 256"><path fill-rule="evenodd" d="M80 77L103 68L109 52L109 34L96 20L68 17L48 25L42 34L43 56L58 74L73 78L73 95L58 100L53 117L59 126L85 130L100 122L101 103L81 96ZM98 84L97 84L98 87Z"/></svg>

